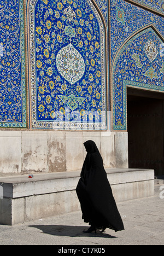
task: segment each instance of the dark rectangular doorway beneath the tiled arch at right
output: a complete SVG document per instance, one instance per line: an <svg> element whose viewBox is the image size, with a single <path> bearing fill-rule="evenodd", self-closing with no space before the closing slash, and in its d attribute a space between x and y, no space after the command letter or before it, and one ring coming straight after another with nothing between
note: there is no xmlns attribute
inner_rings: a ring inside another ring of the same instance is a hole
<svg viewBox="0 0 164 256"><path fill-rule="evenodd" d="M164 174L164 94L127 88L129 168L153 168Z"/></svg>

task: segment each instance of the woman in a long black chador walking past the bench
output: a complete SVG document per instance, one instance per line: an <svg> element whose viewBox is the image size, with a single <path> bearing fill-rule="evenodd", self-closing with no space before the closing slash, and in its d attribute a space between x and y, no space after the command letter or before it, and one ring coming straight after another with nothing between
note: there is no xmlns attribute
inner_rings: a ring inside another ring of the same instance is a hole
<svg viewBox="0 0 164 256"><path fill-rule="evenodd" d="M93 141L85 142L84 146L87 155L76 190L84 222L91 226L83 232L124 230L98 148Z"/></svg>

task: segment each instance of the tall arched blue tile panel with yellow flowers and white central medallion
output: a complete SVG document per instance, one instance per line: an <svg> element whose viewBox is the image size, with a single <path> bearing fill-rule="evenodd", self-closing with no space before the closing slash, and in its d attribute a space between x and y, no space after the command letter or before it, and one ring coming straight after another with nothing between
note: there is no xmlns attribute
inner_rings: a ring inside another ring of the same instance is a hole
<svg viewBox="0 0 164 256"><path fill-rule="evenodd" d="M106 129L105 31L91 0L32 0L29 14L32 128Z"/></svg>

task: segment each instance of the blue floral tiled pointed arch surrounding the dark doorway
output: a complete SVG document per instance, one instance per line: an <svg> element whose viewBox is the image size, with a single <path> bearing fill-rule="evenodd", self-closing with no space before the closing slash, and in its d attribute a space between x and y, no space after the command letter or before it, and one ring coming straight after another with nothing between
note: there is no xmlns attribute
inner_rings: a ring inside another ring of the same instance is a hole
<svg viewBox="0 0 164 256"><path fill-rule="evenodd" d="M163 42L161 33L149 24L120 46L112 66L113 130L127 130L127 86L164 92L164 59L160 56ZM154 55L151 55L150 47Z"/></svg>

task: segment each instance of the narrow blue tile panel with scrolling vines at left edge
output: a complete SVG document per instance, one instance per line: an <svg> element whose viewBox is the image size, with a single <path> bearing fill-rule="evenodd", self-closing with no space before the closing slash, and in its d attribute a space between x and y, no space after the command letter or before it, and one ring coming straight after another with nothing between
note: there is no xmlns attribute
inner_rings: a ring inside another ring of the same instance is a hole
<svg viewBox="0 0 164 256"><path fill-rule="evenodd" d="M0 4L0 127L26 127L23 1Z"/></svg>

